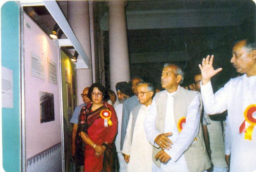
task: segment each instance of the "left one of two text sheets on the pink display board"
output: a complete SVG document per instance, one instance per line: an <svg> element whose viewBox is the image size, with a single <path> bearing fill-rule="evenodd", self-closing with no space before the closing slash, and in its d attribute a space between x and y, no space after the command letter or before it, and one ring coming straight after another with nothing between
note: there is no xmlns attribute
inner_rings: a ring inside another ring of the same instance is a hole
<svg viewBox="0 0 256 172"><path fill-rule="evenodd" d="M44 59L30 52L31 75L44 80Z"/></svg>

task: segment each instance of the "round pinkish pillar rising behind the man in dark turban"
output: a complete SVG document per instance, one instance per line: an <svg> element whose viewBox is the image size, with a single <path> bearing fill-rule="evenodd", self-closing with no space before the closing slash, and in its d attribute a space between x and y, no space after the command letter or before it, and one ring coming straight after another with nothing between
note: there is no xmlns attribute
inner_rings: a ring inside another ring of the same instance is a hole
<svg viewBox="0 0 256 172"><path fill-rule="evenodd" d="M116 83L130 80L125 1L108 2L108 33L110 58L110 88Z"/></svg>

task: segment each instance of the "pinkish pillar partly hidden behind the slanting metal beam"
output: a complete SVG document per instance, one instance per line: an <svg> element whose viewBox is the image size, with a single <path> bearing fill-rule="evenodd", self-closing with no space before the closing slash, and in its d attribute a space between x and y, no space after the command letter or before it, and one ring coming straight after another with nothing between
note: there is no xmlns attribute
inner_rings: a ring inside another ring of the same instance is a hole
<svg viewBox="0 0 256 172"><path fill-rule="evenodd" d="M78 104L82 104L82 97L79 95L85 87L92 84L92 56L88 1L68 1L68 22L90 61L89 69L76 70Z"/></svg>

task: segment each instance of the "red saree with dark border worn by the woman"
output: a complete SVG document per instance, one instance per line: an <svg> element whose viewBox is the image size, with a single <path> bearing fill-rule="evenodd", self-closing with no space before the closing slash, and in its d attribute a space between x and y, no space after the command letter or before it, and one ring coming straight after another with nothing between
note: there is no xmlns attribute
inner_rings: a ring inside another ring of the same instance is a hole
<svg viewBox="0 0 256 172"><path fill-rule="evenodd" d="M79 124L84 120L84 132L88 135L88 137L96 144L96 145L104 145L104 143L108 143L108 147L106 147L106 151L109 152L109 148L114 146L114 138L116 137L117 133L117 117L114 108L109 105L108 103L104 102L103 106L100 108L91 111L92 105L88 104L85 108L85 113L82 115L81 110L81 117L79 117ZM108 119L104 119L103 115L100 113L103 110L110 111L110 117ZM80 121L81 119L81 121ZM110 120L112 125L109 125L106 120ZM83 122L82 122L83 123ZM79 128L80 126L78 126ZM112 144L113 143L113 144ZM115 147L115 146L114 146ZM105 152L106 152L105 151ZM106 159L105 155L101 155L98 158L95 156L94 148L90 147L89 145L85 144L85 151L84 151L84 172L111 172L112 165L109 164L109 161L103 164L103 159ZM108 154L108 153L107 153ZM111 156L110 156L111 157ZM108 159L108 158L107 158ZM103 169L104 166L104 169ZM107 168L106 168L107 167Z"/></svg>

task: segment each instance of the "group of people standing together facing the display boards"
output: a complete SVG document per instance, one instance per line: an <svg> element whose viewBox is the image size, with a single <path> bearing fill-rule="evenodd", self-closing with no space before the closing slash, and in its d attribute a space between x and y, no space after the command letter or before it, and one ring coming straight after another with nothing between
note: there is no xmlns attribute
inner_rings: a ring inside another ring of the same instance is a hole
<svg viewBox="0 0 256 172"><path fill-rule="evenodd" d="M215 94L210 80L222 68L214 69L213 59L202 60L190 89L171 63L162 68L160 92L139 77L116 83L117 96L98 83L85 88L70 121L72 156L83 171L254 172L256 43L234 44L231 63L243 75ZM222 127L212 116L226 110Z"/></svg>

